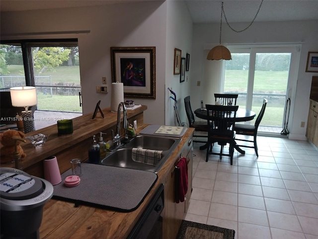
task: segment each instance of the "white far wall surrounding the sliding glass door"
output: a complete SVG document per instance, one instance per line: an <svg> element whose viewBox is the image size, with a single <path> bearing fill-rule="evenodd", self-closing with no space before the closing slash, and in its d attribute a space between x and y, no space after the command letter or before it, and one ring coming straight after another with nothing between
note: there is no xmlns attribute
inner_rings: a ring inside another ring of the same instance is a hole
<svg viewBox="0 0 318 239"><path fill-rule="evenodd" d="M248 23L231 24L235 29L245 28ZM292 100L294 116L289 123L289 138L306 140L306 126L309 110L309 95L312 76L318 73L308 73L306 70L307 55L309 51L318 51L318 21L286 21L286 22L254 22L251 27L241 33L232 31L226 24L222 27L222 42L228 44L246 43L301 43L300 63L297 76L296 96ZM191 104L193 108L200 107L203 95L204 44L218 43L220 37L220 24L194 24L191 61L195 62L191 71L191 78L201 80L201 87L196 86L196 80L191 81ZM300 127L305 121L305 127Z"/></svg>

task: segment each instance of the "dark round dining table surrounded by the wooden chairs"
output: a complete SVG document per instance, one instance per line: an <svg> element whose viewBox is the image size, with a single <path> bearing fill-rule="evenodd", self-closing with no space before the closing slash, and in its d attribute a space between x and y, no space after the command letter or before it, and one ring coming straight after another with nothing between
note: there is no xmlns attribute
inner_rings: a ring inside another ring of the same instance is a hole
<svg viewBox="0 0 318 239"><path fill-rule="evenodd" d="M197 118L200 119L208 119L207 109L205 108L199 108L194 111L194 114ZM254 119L256 116L255 112L245 110L242 108L239 108L235 117L235 122L245 122L250 121ZM208 144L200 146L200 150L206 149L208 147ZM234 145L234 148L241 154L245 154L245 151L242 150L236 143Z"/></svg>

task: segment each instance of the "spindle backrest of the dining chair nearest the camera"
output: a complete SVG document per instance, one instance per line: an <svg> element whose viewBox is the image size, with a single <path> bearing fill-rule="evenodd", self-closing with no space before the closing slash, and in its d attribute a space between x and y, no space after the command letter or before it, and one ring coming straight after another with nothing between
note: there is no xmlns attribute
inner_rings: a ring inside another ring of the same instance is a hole
<svg viewBox="0 0 318 239"><path fill-rule="evenodd" d="M235 117L239 106L205 105L208 116L209 136L233 137Z"/></svg>

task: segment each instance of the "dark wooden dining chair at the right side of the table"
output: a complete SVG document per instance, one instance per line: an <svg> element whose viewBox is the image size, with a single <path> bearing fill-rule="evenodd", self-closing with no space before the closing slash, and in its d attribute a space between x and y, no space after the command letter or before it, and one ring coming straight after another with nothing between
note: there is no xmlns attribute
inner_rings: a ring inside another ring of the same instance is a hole
<svg viewBox="0 0 318 239"><path fill-rule="evenodd" d="M267 100L264 99L263 100L263 105L262 105L262 108L255 120L255 124L254 125L250 125L250 124L236 124L234 129L236 130L237 134L242 134L242 135L247 135L247 136L252 136L253 137L253 140L249 140L249 139L240 139L240 138L237 138L236 140L238 141L245 141L245 142L253 142L253 146L251 145L247 145L247 144L243 144L243 145L240 145L240 144L237 144L239 147L247 147L247 148L254 148L255 150L255 153L256 153L256 156L258 157L258 149L257 149L257 140L256 140L256 136L257 136L257 129L258 129L258 126L259 126L259 123L260 121L262 120L263 116L264 116L264 112L265 112L265 109L266 109L266 104L267 104Z"/></svg>

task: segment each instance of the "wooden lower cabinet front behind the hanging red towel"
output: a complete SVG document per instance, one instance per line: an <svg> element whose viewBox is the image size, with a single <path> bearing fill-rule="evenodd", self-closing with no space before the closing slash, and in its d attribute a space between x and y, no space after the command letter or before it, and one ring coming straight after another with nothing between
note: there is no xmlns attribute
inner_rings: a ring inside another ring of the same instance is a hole
<svg viewBox="0 0 318 239"><path fill-rule="evenodd" d="M188 162L188 191L184 202L175 203L175 166L181 157L186 157ZM164 180L164 209L162 212L162 239L176 238L182 220L189 207L192 191L192 164L193 143L192 136L182 148L180 155L175 158L173 167L169 170Z"/></svg>

